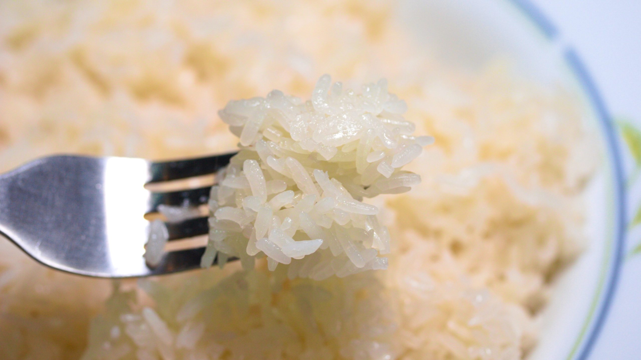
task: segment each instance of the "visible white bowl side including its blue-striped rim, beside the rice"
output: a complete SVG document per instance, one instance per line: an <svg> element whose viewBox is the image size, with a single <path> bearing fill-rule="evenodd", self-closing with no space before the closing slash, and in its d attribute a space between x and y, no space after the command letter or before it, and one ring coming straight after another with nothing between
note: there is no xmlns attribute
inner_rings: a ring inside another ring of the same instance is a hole
<svg viewBox="0 0 641 360"><path fill-rule="evenodd" d="M587 249L554 281L529 359L586 359L610 309L626 228L619 144L597 88L556 27L526 0L406 0L399 16L442 61L476 69L508 56L522 75L562 83L583 100L603 154L587 191Z"/></svg>

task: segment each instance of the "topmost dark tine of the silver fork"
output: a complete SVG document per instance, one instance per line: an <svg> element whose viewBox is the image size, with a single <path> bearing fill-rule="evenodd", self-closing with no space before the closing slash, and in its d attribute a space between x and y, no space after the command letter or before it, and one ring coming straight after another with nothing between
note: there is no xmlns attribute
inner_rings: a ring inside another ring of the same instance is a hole
<svg viewBox="0 0 641 360"><path fill-rule="evenodd" d="M226 167L229 164L229 159L235 154L236 152L230 152L205 158L150 163L149 183L213 174Z"/></svg>

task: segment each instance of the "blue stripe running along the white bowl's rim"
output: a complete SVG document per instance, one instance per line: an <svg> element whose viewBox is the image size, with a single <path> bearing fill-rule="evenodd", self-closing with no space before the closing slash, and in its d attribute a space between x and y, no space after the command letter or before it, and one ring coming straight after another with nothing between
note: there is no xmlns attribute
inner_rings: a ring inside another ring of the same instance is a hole
<svg viewBox="0 0 641 360"><path fill-rule="evenodd" d="M549 41L552 42L558 38L558 28L537 8L537 6L535 6L535 4L531 3L531 1L509 0L508 3L517 7L522 13L524 13L524 15L526 15L526 17L529 18L529 20L534 22L537 28ZM610 312L610 308L612 307L612 302L617 291L617 286L619 285L619 277L624 259L624 250L626 248L627 196L624 180L624 167L622 165L622 156L619 147L620 141L617 131L615 130L612 116L603 101L603 97L601 96L599 89L592 80L592 76L590 76L590 73L576 51L574 51L572 47L566 47L563 50L563 57L565 58L570 70L574 73L574 76L576 76L579 85L581 85L583 91L585 91L585 94L597 115L597 120L603 129L606 145L610 153L610 160L613 165L615 200L617 201L615 206L615 210L617 212L615 217L615 246L613 248L612 262L608 269L610 276L607 278L606 284L604 285L605 291L599 301L599 304L597 304L597 311L594 313L594 318L592 318L590 330L583 337L583 341L581 341L578 351L574 353L576 356L573 357L574 360L586 360L588 356L590 356L590 352L594 348L594 345L599 338L599 334L606 323L608 313Z"/></svg>

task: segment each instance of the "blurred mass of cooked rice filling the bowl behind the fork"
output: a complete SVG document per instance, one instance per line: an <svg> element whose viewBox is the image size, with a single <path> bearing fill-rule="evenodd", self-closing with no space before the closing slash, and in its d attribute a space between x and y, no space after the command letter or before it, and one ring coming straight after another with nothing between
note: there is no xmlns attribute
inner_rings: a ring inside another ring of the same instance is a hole
<svg viewBox="0 0 641 360"><path fill-rule="evenodd" d="M385 271L290 280L260 259L113 286L0 241L0 359L524 357L581 239L581 112L505 67L466 74L421 51L387 1L0 1L2 170L53 152L231 151L216 115L229 99L307 96L326 72L352 88L385 76L435 138L405 167L422 177L412 192L368 200L394 240ZM288 186L265 181L269 202L293 201Z"/></svg>

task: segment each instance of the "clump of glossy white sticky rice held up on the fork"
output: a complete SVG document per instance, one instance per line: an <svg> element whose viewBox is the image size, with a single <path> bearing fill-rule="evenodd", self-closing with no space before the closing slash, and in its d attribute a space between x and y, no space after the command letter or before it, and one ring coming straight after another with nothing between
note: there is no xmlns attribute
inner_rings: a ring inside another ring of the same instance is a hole
<svg viewBox="0 0 641 360"><path fill-rule="evenodd" d="M387 268L390 235L363 198L420 183L401 168L433 138L412 135L406 108L385 79L356 92L328 75L308 101L278 90L230 101L219 115L240 152L212 188L201 265L233 256L253 268L264 255L270 270L316 280Z"/></svg>

